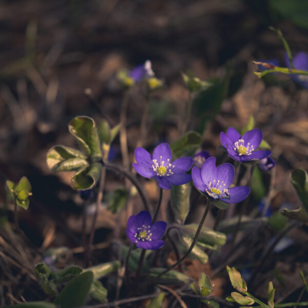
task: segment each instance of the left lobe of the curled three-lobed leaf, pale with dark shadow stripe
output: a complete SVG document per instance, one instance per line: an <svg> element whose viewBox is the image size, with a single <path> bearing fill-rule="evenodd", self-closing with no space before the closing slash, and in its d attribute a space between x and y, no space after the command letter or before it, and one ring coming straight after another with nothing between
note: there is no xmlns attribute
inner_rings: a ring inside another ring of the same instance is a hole
<svg viewBox="0 0 308 308"><path fill-rule="evenodd" d="M78 170L88 165L86 158L81 151L56 145L47 152L47 165L53 172Z"/></svg>

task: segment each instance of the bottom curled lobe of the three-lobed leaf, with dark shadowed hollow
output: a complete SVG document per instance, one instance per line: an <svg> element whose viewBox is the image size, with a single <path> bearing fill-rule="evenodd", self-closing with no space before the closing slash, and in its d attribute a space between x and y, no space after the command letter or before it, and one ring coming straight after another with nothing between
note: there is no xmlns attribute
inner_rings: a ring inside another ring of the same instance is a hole
<svg viewBox="0 0 308 308"><path fill-rule="evenodd" d="M78 170L71 179L73 189L83 190L94 187L100 178L101 170L100 163L92 163L89 167L85 166Z"/></svg>

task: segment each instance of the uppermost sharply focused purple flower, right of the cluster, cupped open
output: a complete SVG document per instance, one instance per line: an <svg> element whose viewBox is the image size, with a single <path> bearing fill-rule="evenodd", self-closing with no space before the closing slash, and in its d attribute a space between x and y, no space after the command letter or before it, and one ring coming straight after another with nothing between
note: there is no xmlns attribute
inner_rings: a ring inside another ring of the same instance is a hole
<svg viewBox="0 0 308 308"><path fill-rule="evenodd" d="M257 128L246 131L243 136L234 127L229 127L227 133L220 133L221 144L228 155L239 162L256 161L271 155L271 151L256 151L262 139L262 131Z"/></svg>

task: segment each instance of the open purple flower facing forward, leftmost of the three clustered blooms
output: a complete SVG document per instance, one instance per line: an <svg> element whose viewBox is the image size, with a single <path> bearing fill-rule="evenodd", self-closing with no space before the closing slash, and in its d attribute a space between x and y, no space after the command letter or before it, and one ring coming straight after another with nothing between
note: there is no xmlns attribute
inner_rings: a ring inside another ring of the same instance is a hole
<svg viewBox="0 0 308 308"><path fill-rule="evenodd" d="M186 184L191 180L191 175L186 175L192 165L191 157L183 157L171 163L172 153L167 143L159 144L153 151L153 155L142 147L134 152L137 164L133 168L141 176L151 179L155 178L158 186L170 189L171 185Z"/></svg>

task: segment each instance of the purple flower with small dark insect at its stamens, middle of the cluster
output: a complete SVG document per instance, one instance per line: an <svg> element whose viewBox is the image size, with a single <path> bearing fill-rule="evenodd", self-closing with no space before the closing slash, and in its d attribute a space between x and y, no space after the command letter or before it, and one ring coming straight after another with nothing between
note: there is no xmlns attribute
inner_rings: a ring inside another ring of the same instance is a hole
<svg viewBox="0 0 308 308"><path fill-rule="evenodd" d="M212 201L237 203L243 201L250 192L247 186L228 188L234 179L234 167L228 163L216 167L215 157L208 158L201 170L193 167L191 176L196 188Z"/></svg>

